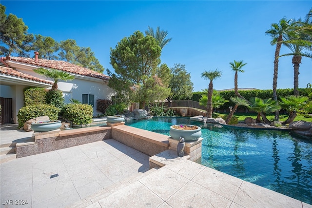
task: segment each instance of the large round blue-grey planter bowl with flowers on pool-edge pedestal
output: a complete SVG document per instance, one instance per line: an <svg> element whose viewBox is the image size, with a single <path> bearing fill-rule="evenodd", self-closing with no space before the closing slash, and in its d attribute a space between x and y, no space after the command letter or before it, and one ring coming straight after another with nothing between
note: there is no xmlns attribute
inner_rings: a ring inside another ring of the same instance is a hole
<svg viewBox="0 0 312 208"><path fill-rule="evenodd" d="M183 125L183 126L195 126L195 127L197 127L197 129L194 129L194 130L177 129L177 128L174 128L173 126L180 126L180 125L170 126L169 134L175 140L179 140L180 137L183 137L185 142L190 142L190 141L196 141L201 137L201 128L199 126Z"/></svg>

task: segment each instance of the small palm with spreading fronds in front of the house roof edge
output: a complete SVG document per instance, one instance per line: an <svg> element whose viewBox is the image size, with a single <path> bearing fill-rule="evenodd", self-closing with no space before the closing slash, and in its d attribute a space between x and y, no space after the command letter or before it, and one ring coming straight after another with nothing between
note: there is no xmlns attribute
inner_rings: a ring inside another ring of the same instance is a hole
<svg viewBox="0 0 312 208"><path fill-rule="evenodd" d="M53 80L53 85L51 90L58 90L58 83L60 81L70 81L74 80L75 77L68 72L57 70L57 69L45 69L45 68L38 68L33 69L34 72L37 74L40 74L42 76L45 76L46 78L50 78Z"/></svg>

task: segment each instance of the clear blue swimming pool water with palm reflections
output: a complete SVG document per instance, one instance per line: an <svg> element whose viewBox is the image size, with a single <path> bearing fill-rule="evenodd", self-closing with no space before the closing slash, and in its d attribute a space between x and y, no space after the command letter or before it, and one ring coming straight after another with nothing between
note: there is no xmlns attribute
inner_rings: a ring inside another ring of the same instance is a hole
<svg viewBox="0 0 312 208"><path fill-rule="evenodd" d="M288 131L215 127L178 117L126 123L165 135L176 124L202 128L202 158L198 163L312 204L311 141Z"/></svg>

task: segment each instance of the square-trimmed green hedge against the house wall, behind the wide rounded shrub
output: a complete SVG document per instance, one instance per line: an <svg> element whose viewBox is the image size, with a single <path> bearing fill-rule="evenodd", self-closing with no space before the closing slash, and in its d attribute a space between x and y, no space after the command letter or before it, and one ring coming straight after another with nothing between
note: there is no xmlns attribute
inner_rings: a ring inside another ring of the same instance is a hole
<svg viewBox="0 0 312 208"><path fill-rule="evenodd" d="M45 98L47 94L47 89L44 88L29 88L24 90L25 96L25 106L36 105L36 104L46 104Z"/></svg>

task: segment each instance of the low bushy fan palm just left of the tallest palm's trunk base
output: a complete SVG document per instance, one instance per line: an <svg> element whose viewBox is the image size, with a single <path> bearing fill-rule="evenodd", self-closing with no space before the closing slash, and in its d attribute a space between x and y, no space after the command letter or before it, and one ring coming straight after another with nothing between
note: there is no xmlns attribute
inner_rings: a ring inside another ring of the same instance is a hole
<svg viewBox="0 0 312 208"><path fill-rule="evenodd" d="M257 113L257 123L261 122L260 118L262 117L262 120L266 124L270 124L271 122L267 119L266 114L273 113L281 108L280 105L271 98L262 100L261 98L254 97L250 98L249 101L249 108Z"/></svg>

